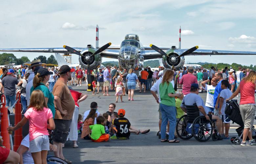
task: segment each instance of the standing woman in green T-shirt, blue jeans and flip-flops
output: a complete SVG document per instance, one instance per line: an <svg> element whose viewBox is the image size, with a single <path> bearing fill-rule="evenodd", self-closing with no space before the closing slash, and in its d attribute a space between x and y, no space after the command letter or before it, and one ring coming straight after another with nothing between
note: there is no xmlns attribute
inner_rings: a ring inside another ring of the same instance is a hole
<svg viewBox="0 0 256 164"><path fill-rule="evenodd" d="M169 142L178 143L180 141L174 139L174 131L176 126L176 106L175 98L180 97L180 93L175 93L172 83L174 72L168 70L164 73L162 82L159 86L160 92L160 111L162 113L162 124L161 124L161 142L166 142L168 139L165 138L166 125L169 121Z"/></svg>

